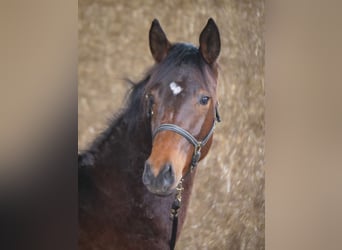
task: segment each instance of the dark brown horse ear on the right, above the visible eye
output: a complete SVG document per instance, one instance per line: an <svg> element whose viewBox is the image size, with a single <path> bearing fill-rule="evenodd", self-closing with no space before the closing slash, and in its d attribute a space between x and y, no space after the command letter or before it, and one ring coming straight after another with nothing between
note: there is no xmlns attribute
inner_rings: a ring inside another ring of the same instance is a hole
<svg viewBox="0 0 342 250"><path fill-rule="evenodd" d="M220 54L221 41L220 33L216 23L209 18L207 25L200 35L200 52L208 64L213 64Z"/></svg>

